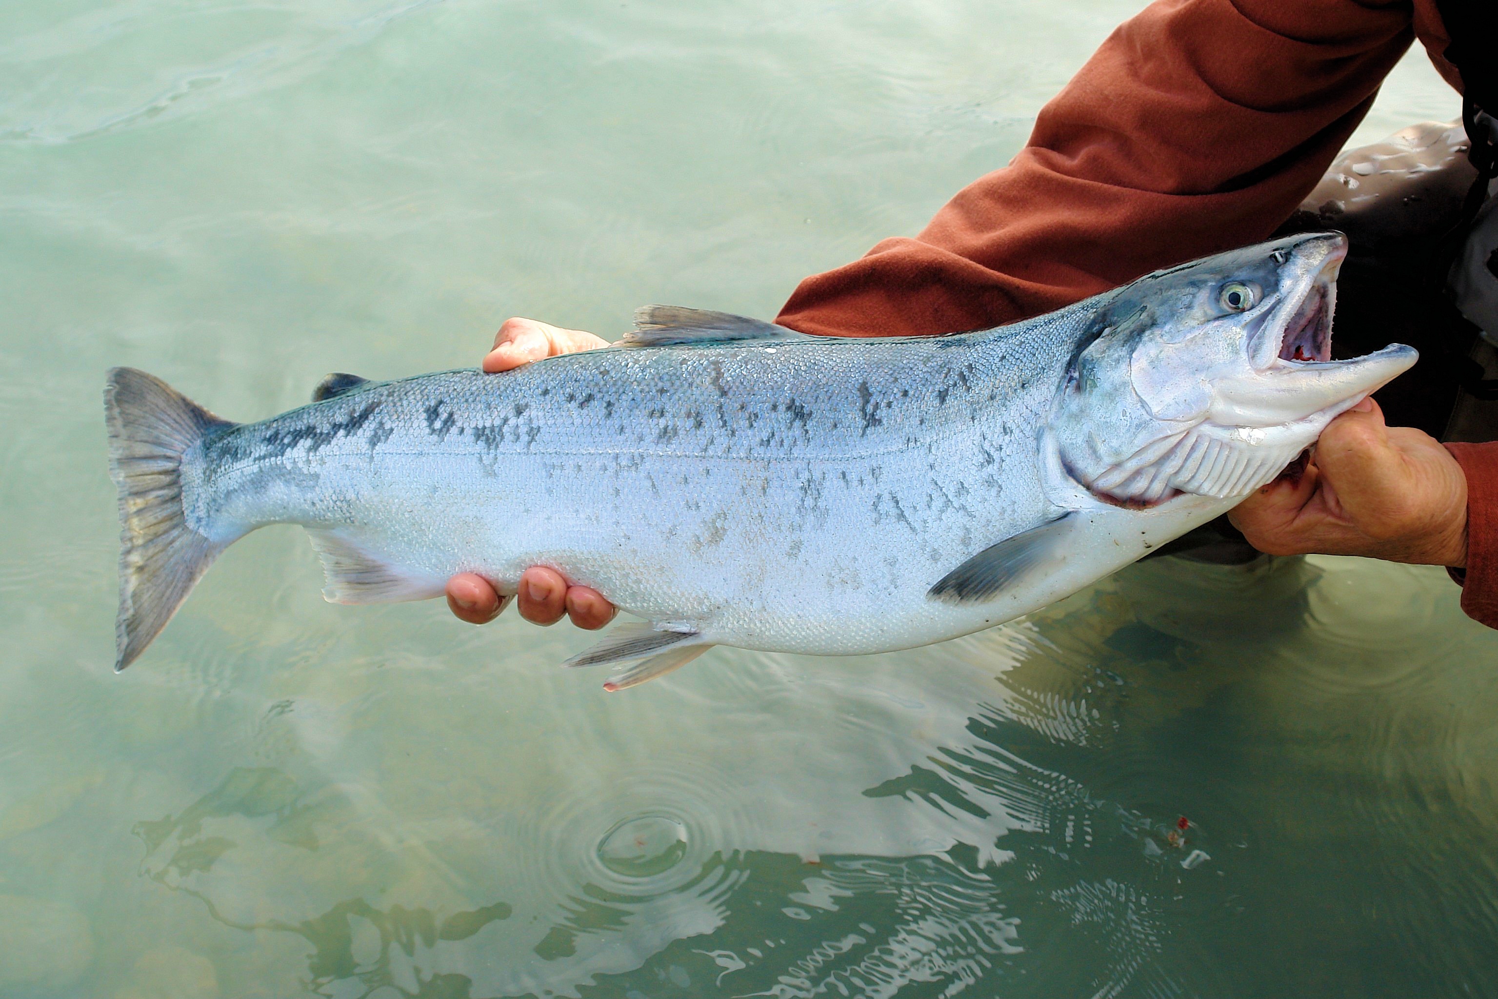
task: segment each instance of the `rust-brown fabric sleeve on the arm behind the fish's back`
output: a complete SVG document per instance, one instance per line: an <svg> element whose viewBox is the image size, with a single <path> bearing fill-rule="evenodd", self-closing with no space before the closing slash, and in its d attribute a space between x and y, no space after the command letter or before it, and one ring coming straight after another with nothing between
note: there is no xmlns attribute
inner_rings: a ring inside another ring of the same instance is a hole
<svg viewBox="0 0 1498 999"><path fill-rule="evenodd" d="M1010 166L915 238L801 282L779 322L833 335L981 330L1263 240L1417 28L1444 48L1434 0L1159 0L1046 105Z"/></svg>

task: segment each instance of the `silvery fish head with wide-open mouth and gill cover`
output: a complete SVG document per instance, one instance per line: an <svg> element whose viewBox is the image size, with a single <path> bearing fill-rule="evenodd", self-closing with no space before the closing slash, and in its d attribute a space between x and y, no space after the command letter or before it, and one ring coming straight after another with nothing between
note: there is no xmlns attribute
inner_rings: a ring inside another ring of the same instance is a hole
<svg viewBox="0 0 1498 999"><path fill-rule="evenodd" d="M1417 359L1392 344L1332 359L1338 232L1294 235L1147 274L1106 298L1050 413L1067 473L1153 506L1246 496Z"/></svg>

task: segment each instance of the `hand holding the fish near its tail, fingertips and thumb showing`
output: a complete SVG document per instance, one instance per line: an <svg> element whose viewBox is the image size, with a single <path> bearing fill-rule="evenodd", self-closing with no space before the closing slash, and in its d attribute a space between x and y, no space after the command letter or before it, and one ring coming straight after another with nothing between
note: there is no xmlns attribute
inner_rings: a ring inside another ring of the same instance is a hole
<svg viewBox="0 0 1498 999"><path fill-rule="evenodd" d="M494 334L494 346L484 356L488 373L508 371L577 350L607 347L608 341L583 330L563 330L535 319L506 319ZM560 572L532 566L520 577L517 604L520 616L536 625L554 625L566 614L578 628L602 628L614 619L614 605L598 590L569 584ZM448 580L448 607L470 625L484 625L499 617L509 596L500 596L494 584L475 572L460 572Z"/></svg>

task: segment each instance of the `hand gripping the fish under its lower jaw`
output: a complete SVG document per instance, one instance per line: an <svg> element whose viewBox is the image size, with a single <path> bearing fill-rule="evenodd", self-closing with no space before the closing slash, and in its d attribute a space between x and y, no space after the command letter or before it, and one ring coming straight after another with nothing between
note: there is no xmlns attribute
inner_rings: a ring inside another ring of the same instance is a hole
<svg viewBox="0 0 1498 999"><path fill-rule="evenodd" d="M1299 479L1275 479L1228 520L1272 556L1467 565L1462 466L1429 434L1384 425L1372 398L1327 424Z"/></svg>

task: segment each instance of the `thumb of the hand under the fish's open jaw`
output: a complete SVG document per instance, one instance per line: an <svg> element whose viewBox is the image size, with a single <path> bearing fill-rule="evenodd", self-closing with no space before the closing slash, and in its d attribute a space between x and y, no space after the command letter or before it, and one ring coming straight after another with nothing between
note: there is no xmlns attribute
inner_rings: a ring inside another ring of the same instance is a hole
<svg viewBox="0 0 1498 999"><path fill-rule="evenodd" d="M1410 496L1410 469L1389 440L1378 403L1365 400L1321 431L1315 463L1335 490L1347 520L1377 533L1386 520L1398 520Z"/></svg>

